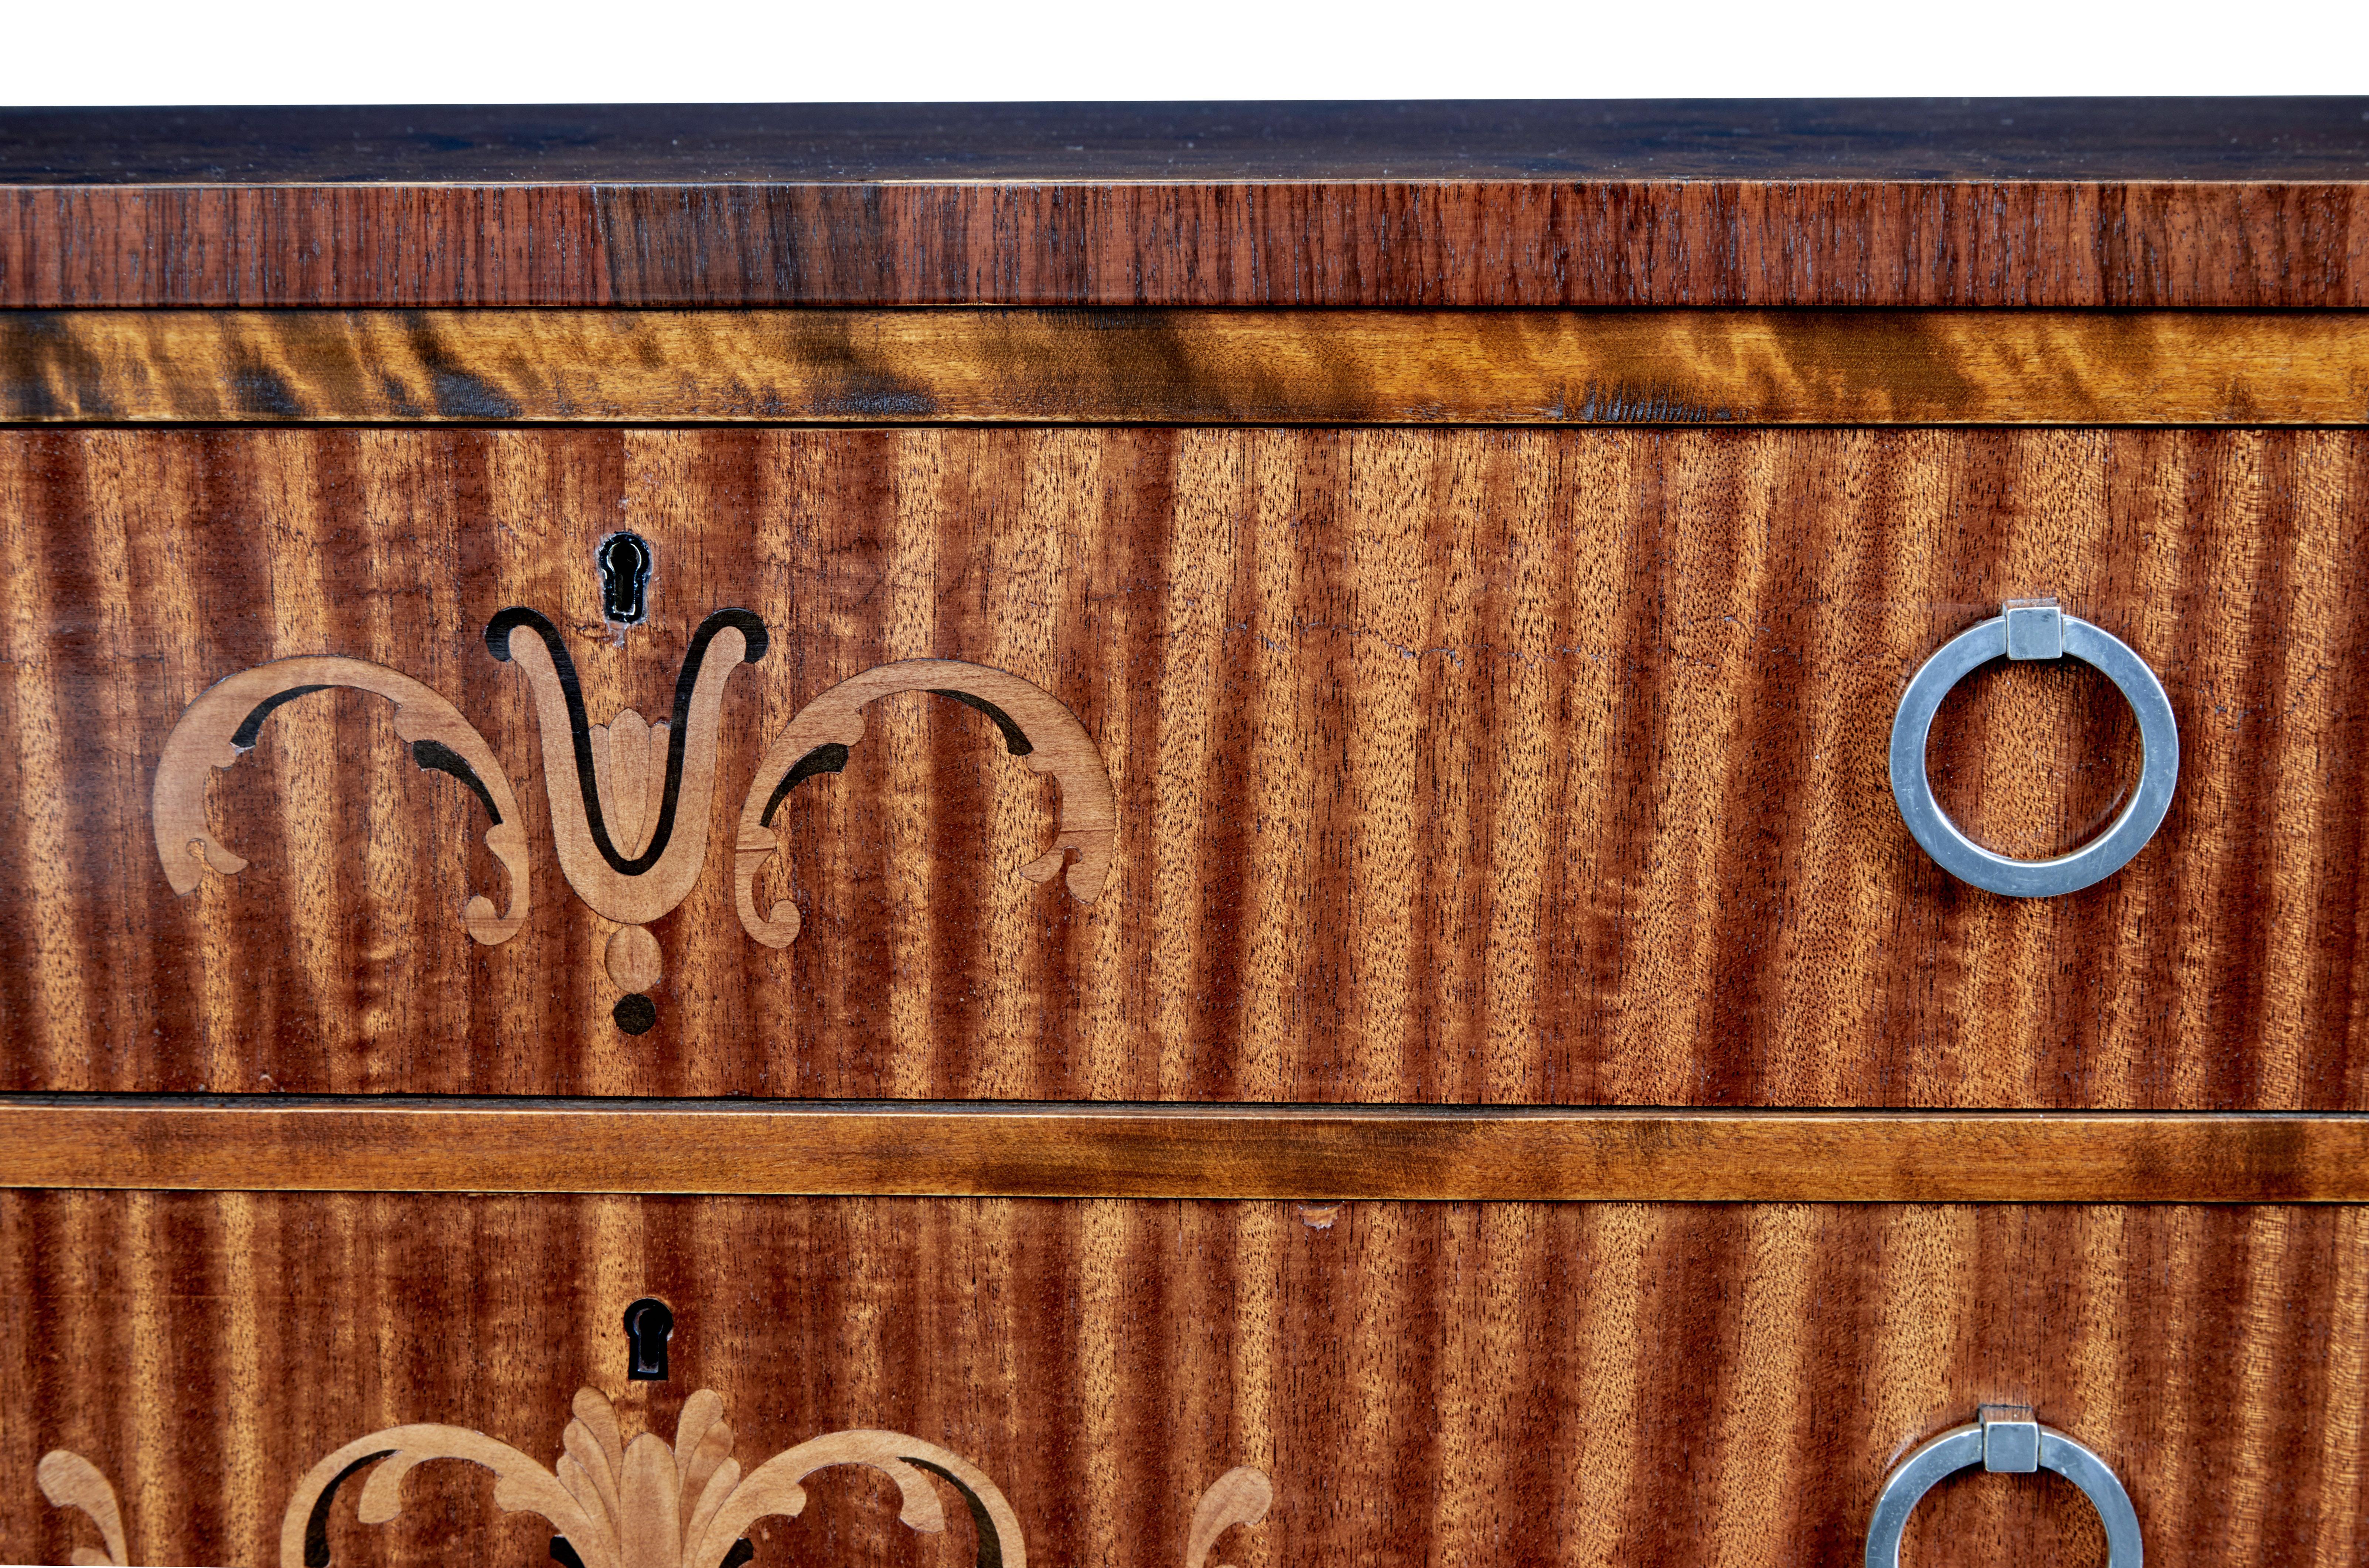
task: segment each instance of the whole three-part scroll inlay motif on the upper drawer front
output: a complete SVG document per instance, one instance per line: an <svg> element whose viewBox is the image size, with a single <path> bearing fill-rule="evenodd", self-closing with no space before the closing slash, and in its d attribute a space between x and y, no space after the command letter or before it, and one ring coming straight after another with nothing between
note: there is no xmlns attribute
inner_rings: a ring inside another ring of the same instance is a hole
<svg viewBox="0 0 2369 1568"><path fill-rule="evenodd" d="M526 635L519 635L526 632ZM725 682L765 658L765 621L720 609L692 635L675 680L670 718L647 720L623 708L606 725L588 720L576 663L559 628L512 606L486 625L486 651L519 666L543 734L543 782L552 808L559 869L595 914L616 921L604 964L625 992L616 1023L642 1033L656 1021L649 992L663 957L649 921L673 912L706 865L708 820L723 727ZM230 853L206 822L206 779L253 751L263 722L310 692L348 687L396 703L396 734L412 760L448 772L483 808L486 848L507 874L505 905L471 895L462 924L479 943L519 933L528 914L526 831L509 775L486 737L422 682L362 658L308 656L261 663L225 677L190 703L156 765L152 820L156 855L175 893L192 893L204 872L235 876L246 860ZM741 924L765 947L798 938L798 912L779 900L758 910L756 876L787 855L784 801L803 782L839 772L865 737L862 708L898 692L931 692L995 722L1012 756L1059 784L1061 820L1049 850L1019 867L1031 881L1068 869L1073 898L1092 902L1111 874L1118 798L1111 775L1078 715L1019 675L957 658L910 658L877 666L805 703L775 737L749 784L732 853Z"/></svg>

